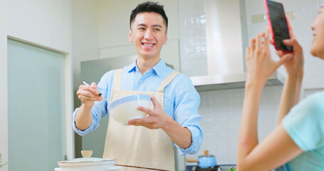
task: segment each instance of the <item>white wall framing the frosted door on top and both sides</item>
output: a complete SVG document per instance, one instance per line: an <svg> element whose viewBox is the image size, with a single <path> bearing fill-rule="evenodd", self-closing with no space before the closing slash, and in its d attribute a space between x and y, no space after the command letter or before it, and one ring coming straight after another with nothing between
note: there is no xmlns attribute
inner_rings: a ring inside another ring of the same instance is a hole
<svg viewBox="0 0 324 171"><path fill-rule="evenodd" d="M1 140L0 152L8 160L8 81L7 81L7 36L42 48L58 51L65 55L66 91L66 149L67 157L74 157L72 112L72 60L70 1L66 0L2 0L0 7L0 49L1 49ZM8 15L7 15L8 14ZM4 167L8 170L8 167Z"/></svg>

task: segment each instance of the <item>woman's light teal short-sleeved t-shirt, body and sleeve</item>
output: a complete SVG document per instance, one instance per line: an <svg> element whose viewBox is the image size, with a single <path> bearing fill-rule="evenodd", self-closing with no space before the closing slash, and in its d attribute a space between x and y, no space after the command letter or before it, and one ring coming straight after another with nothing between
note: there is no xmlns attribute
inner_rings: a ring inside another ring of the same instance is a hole
<svg viewBox="0 0 324 171"><path fill-rule="evenodd" d="M324 170L324 91L302 100L283 118L283 127L301 155L286 164L288 170Z"/></svg>

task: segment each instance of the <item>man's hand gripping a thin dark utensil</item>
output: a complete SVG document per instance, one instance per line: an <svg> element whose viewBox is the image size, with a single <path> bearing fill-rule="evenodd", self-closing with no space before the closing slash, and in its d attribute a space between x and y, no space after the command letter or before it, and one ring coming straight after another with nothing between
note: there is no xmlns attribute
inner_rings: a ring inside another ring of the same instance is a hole
<svg viewBox="0 0 324 171"><path fill-rule="evenodd" d="M98 95L99 91L95 82L91 83L90 86L80 85L76 94L87 108L92 108L93 105L95 105L95 101L103 100L103 98Z"/></svg>

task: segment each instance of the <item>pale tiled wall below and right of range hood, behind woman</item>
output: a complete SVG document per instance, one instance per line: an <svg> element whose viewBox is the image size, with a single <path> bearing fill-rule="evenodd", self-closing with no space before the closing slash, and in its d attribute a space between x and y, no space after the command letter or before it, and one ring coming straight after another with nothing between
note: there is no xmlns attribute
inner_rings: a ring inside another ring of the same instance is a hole
<svg viewBox="0 0 324 171"><path fill-rule="evenodd" d="M265 31L268 23L252 24L251 16L266 12L261 0L246 0L245 3L248 37L253 38L257 33ZM309 51L313 40L310 24L318 14L319 6L324 3L324 0L283 0L281 3L286 11L296 12L296 19L293 19L291 24L304 51L303 90L305 90L305 95L308 92L323 90L324 61L314 58ZM273 58L278 59L273 48L271 53ZM285 72L284 68L280 68L280 71ZM263 90L258 118L259 140L263 140L276 126L282 90L283 86L271 86ZM202 115L204 140L196 155L186 155L186 157L197 158L204 153L204 150L209 150L210 154L216 156L218 164L235 164L244 89L205 91L199 92L199 95L201 97L199 113ZM197 164L187 163L187 165Z"/></svg>

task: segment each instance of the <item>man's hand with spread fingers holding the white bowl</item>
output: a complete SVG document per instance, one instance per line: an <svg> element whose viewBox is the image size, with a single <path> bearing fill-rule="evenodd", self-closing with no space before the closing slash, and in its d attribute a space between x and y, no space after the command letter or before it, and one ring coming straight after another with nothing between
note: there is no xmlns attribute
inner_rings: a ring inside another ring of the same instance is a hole
<svg viewBox="0 0 324 171"><path fill-rule="evenodd" d="M154 96L151 96L151 100L153 103L153 110L150 108L144 108L139 106L137 109L141 110L148 114L146 118L129 120L128 125L135 125L135 126L144 126L149 129L159 129L165 128L167 125L167 120L170 119L167 113L164 113L164 110L161 108L160 103Z"/></svg>

